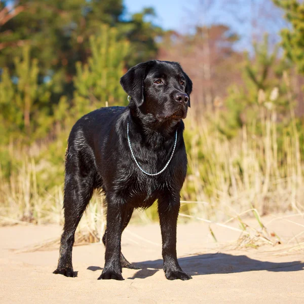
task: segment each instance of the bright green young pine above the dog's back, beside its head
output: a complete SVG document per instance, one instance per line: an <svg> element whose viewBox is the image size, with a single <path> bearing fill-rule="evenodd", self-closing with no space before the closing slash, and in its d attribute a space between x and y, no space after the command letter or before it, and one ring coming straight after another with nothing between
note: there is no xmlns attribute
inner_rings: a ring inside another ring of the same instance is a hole
<svg viewBox="0 0 304 304"><path fill-rule="evenodd" d="M74 106L81 113L81 106L93 108L108 105L124 105L127 95L119 81L124 74L126 57L130 54L127 40L118 40L118 30L107 25L100 27L100 33L90 37L92 56L88 63L77 63L77 75L74 78Z"/></svg>

